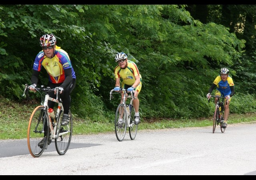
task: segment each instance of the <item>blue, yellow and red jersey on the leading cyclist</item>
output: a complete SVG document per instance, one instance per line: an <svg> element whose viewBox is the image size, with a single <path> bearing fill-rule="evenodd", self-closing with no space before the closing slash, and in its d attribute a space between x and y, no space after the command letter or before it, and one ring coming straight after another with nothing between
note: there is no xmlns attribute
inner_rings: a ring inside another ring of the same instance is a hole
<svg viewBox="0 0 256 180"><path fill-rule="evenodd" d="M41 71L44 67L49 74L49 81L52 83L62 83L65 80L64 69L72 69L72 77L76 78L72 68L68 53L56 46L54 56L48 58L44 55L43 50L38 53L34 61L33 69Z"/></svg>

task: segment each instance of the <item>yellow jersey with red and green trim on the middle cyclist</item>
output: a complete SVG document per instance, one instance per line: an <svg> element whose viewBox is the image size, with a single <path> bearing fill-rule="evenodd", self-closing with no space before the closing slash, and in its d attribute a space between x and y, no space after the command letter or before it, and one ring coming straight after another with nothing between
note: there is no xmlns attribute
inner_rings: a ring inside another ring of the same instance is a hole
<svg viewBox="0 0 256 180"><path fill-rule="evenodd" d="M115 78L122 78L123 83L132 86L135 82L135 76L140 76L140 82L142 82L142 77L138 70L137 65L133 61L127 61L128 66L125 69L116 66L114 70Z"/></svg>

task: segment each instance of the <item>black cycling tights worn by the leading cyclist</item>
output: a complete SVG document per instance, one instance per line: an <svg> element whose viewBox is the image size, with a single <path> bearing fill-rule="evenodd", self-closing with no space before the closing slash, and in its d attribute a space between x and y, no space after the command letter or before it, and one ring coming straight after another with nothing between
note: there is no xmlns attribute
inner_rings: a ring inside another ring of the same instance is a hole
<svg viewBox="0 0 256 180"><path fill-rule="evenodd" d="M58 83L58 84L54 84L52 82L48 82L48 87L50 87L51 89L56 88L56 87L60 87L62 83ZM70 82L70 84L68 84L68 87L63 90L63 92L60 94L60 98L62 100L62 104L63 104L63 108L64 108L64 114L68 114L69 112L69 108L70 108L70 104L71 104L71 97L70 97L70 93L72 92L72 90L74 89L74 87L76 86L76 79L73 78L72 82ZM54 94L54 92L49 92L49 96L51 98L56 98L56 94ZM55 102L52 101L48 101L48 106L49 108L54 108Z"/></svg>

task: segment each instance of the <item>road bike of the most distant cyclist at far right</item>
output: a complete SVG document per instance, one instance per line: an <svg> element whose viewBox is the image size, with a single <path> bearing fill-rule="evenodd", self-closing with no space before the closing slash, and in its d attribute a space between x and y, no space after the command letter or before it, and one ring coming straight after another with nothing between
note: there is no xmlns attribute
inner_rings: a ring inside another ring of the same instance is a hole
<svg viewBox="0 0 256 180"><path fill-rule="evenodd" d="M215 132L216 129L216 124L217 126L220 125L220 130L221 132L225 132L226 128L222 128L222 124L224 121L224 99L226 97L223 96L211 96L214 98L217 98L216 104L215 104L215 110L214 110L214 115L213 115L213 128L212 128L212 133ZM222 99L222 101L220 102L220 99ZM210 102L210 99L208 99L208 102ZM228 104L228 100L226 100L226 104Z"/></svg>

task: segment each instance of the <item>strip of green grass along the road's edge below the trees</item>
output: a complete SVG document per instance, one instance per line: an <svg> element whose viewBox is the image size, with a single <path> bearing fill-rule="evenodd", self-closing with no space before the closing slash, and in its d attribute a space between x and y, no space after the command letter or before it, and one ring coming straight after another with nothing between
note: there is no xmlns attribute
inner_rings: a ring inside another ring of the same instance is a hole
<svg viewBox="0 0 256 180"><path fill-rule="evenodd" d="M27 136L28 121L33 106L24 106L0 101L0 139L23 139ZM76 117L73 118L73 135L98 134L114 132L113 123L88 122ZM228 124L256 123L256 113L251 114L230 114ZM164 129L164 128L186 128L212 126L212 117L202 119L161 119L142 120L138 126L139 130ZM209 131L212 127L209 127Z"/></svg>

